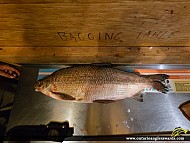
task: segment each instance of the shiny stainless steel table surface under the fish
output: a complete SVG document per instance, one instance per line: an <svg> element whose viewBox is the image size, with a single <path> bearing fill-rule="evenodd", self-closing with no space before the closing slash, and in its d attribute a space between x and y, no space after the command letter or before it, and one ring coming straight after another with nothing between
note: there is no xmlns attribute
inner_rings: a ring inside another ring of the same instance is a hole
<svg viewBox="0 0 190 143"><path fill-rule="evenodd" d="M64 67L58 66L42 66ZM179 110L179 105L190 100L190 94L146 93L144 102L124 99L110 104L83 104L57 101L35 92L41 66L22 66L21 77L10 115L8 129L18 125L40 125L51 121L69 121L74 135L116 135L172 131L176 127L190 129L190 121ZM136 65L119 65L118 68L136 68ZM160 65L142 66L160 68ZM167 66L162 69L189 68Z"/></svg>

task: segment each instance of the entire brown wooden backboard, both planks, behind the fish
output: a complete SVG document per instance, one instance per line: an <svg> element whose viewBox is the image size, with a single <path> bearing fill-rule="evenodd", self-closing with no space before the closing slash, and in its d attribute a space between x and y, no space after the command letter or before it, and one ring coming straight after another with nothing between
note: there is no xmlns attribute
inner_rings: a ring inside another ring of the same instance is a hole
<svg viewBox="0 0 190 143"><path fill-rule="evenodd" d="M190 64L190 1L1 0L0 60Z"/></svg>

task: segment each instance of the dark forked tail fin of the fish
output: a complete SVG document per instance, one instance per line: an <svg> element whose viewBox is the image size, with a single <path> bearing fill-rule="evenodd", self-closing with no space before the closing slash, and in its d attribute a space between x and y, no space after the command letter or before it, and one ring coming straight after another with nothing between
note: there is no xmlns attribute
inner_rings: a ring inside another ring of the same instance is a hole
<svg viewBox="0 0 190 143"><path fill-rule="evenodd" d="M148 78L150 78L153 81L152 87L156 89L157 91L162 92L162 93L167 93L169 91L165 83L166 79L169 78L169 75L155 74L155 75L148 75Z"/></svg>

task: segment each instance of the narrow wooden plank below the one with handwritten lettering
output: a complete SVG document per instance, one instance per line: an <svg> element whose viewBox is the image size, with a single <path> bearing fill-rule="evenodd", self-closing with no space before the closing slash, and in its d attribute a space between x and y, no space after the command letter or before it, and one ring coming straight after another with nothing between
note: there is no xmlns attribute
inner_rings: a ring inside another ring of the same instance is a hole
<svg viewBox="0 0 190 143"><path fill-rule="evenodd" d="M18 64L190 64L190 47L3 47L0 60Z"/></svg>

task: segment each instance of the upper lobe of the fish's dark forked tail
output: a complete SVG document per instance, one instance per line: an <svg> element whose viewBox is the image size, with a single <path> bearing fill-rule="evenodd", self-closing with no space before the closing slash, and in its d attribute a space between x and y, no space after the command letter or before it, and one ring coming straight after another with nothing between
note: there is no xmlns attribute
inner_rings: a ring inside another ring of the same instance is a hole
<svg viewBox="0 0 190 143"><path fill-rule="evenodd" d="M152 81L161 81L165 82L170 76L167 74L154 74L154 75L142 75L144 77L152 79Z"/></svg>

